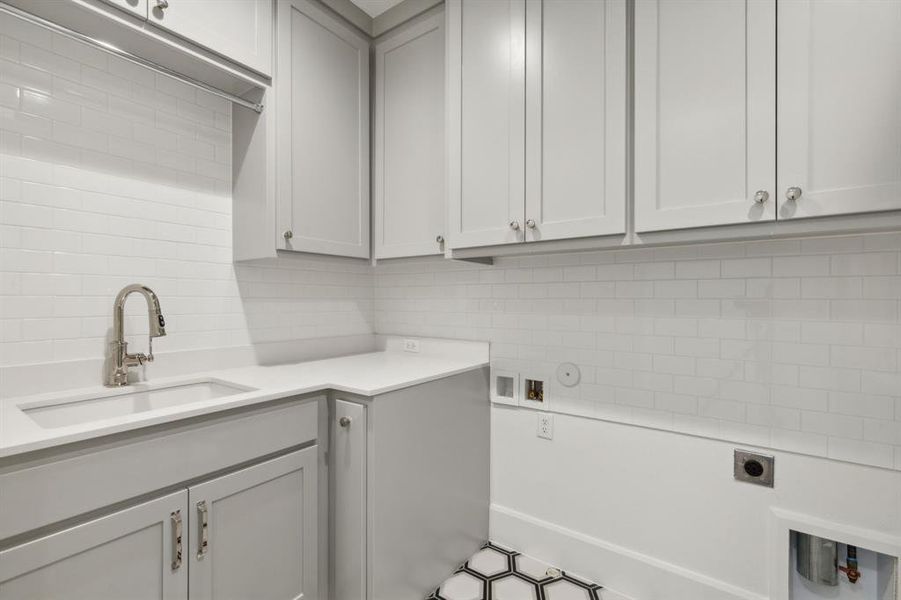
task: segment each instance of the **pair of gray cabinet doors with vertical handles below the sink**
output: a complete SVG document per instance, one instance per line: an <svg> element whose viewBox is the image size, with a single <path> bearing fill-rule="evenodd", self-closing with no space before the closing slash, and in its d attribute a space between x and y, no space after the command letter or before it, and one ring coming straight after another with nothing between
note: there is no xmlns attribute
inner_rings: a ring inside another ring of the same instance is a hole
<svg viewBox="0 0 901 600"><path fill-rule="evenodd" d="M0 598L318 598L317 453L291 452L4 550Z"/></svg>

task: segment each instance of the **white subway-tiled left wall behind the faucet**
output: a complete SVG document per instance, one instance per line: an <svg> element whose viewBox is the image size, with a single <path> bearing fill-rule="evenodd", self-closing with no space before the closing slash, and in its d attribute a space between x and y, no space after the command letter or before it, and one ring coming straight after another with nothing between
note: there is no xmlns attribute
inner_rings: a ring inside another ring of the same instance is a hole
<svg viewBox="0 0 901 600"><path fill-rule="evenodd" d="M174 351L372 333L364 261L232 265L224 100L3 16L0 153L7 392L13 367L101 358L113 298L133 281L167 319L156 369ZM135 350L141 304L128 305Z"/></svg>

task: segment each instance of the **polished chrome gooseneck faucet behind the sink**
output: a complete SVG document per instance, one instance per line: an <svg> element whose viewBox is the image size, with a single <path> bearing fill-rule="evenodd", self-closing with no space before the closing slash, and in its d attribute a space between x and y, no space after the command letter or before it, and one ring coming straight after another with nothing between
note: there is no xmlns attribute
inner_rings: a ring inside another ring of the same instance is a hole
<svg viewBox="0 0 901 600"><path fill-rule="evenodd" d="M147 354L129 354L128 342L125 341L125 300L135 292L147 300L147 318L150 320ZM106 376L103 382L107 387L128 385L128 368L153 362L153 338L166 335L166 320L160 310L160 301L153 290L139 283L122 288L113 303L113 335L115 339L109 345Z"/></svg>

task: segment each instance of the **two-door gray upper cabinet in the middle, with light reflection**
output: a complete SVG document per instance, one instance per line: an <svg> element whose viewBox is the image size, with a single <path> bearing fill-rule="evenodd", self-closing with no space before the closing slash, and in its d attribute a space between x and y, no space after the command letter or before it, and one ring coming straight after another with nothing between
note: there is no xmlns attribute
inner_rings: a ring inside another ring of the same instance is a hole
<svg viewBox="0 0 901 600"><path fill-rule="evenodd" d="M625 1L447 11L450 248L625 233Z"/></svg>

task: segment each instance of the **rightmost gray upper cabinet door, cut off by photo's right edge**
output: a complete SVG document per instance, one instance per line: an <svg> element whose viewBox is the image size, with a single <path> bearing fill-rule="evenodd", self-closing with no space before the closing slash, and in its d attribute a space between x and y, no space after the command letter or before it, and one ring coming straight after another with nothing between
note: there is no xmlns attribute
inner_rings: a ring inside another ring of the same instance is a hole
<svg viewBox="0 0 901 600"><path fill-rule="evenodd" d="M901 209L901 2L780 2L778 23L779 218Z"/></svg>

